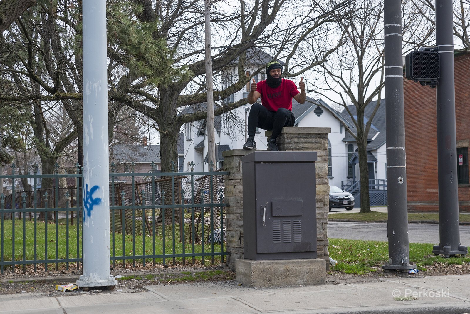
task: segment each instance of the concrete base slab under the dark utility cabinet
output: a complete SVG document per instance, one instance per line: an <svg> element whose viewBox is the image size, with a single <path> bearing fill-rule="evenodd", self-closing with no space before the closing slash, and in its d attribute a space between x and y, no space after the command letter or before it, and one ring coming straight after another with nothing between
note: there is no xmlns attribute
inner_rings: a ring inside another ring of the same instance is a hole
<svg viewBox="0 0 470 314"><path fill-rule="evenodd" d="M326 263L324 259L237 259L235 280L256 288L325 284Z"/></svg>

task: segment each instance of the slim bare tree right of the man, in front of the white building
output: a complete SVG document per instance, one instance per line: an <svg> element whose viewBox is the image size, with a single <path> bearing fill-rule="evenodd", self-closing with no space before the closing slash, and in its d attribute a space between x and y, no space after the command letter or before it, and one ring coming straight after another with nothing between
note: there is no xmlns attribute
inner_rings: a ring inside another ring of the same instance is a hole
<svg viewBox="0 0 470 314"><path fill-rule="evenodd" d="M355 130L345 126L358 146L360 171L360 212L370 212L367 164L367 140L372 119L380 106L384 87L383 3L360 0L349 4L338 28L345 45L339 47L329 61L320 65L319 74L326 88L336 93L333 98L317 90L331 102L344 107ZM378 79L378 80L377 80ZM378 97L370 117L364 117L366 107ZM348 105L353 105L350 110Z"/></svg>

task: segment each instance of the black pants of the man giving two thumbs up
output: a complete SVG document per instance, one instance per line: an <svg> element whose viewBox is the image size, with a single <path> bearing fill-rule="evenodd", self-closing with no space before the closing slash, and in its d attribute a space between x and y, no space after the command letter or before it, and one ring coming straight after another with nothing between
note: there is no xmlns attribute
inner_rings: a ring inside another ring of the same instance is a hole
<svg viewBox="0 0 470 314"><path fill-rule="evenodd" d="M292 111L285 108L280 108L277 112L267 110L266 107L259 103L254 103L251 106L250 114L248 115L248 136L254 137L256 127L260 129L271 131L273 135L271 139L276 139L284 126L294 126L295 117Z"/></svg>

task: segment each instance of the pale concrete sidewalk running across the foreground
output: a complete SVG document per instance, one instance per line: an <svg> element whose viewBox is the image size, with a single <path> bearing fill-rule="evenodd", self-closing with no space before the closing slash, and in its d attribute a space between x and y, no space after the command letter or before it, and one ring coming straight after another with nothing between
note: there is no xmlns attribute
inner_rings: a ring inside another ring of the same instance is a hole
<svg viewBox="0 0 470 314"><path fill-rule="evenodd" d="M234 281L147 286L146 292L47 297L0 295L8 314L468 313L470 275L254 289ZM398 301L394 297L415 297Z"/></svg>

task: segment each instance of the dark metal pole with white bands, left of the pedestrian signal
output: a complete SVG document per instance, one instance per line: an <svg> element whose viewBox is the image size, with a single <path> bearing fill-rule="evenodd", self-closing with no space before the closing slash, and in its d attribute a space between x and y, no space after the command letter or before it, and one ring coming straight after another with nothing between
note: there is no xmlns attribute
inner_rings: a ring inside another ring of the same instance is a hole
<svg viewBox="0 0 470 314"><path fill-rule="evenodd" d="M387 131L388 262L384 271L415 268L409 261L407 169L405 162L405 109L401 2L384 1L385 115Z"/></svg>

